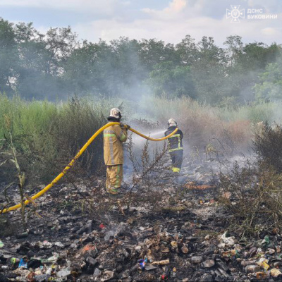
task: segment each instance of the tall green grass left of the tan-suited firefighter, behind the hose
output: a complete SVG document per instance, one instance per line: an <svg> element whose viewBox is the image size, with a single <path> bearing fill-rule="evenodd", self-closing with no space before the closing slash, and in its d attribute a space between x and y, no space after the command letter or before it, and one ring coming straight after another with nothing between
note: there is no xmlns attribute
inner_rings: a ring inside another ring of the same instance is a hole
<svg viewBox="0 0 282 282"><path fill-rule="evenodd" d="M25 161L33 178L51 178L75 156L78 149L106 121L114 99L70 99L68 102L26 102L20 97L8 99L0 94L0 139L7 136L5 118L11 121L11 132L19 152L34 158ZM3 140L1 144L3 145ZM1 146L0 146L1 147ZM101 163L102 135L87 149L80 163L93 171Z"/></svg>

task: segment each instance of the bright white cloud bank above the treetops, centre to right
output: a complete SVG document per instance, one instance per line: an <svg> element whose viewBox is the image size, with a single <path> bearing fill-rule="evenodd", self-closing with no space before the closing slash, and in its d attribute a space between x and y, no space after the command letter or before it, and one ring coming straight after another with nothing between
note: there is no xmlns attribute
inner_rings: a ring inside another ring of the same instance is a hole
<svg viewBox="0 0 282 282"><path fill-rule="evenodd" d="M197 40L202 36L212 36L217 44L223 44L226 37L240 35L245 42L278 42L282 37L281 20L241 20L231 23L226 19L226 8L223 2L221 18L204 16L201 11L207 0L172 0L162 10L142 9L146 15L130 23L120 18L94 20L91 23L80 23L74 27L80 37L96 42L102 38L106 41L120 36L131 39L157 38L166 42L178 43L185 35ZM280 17L282 15L279 15ZM278 16L278 18L279 18Z"/></svg>

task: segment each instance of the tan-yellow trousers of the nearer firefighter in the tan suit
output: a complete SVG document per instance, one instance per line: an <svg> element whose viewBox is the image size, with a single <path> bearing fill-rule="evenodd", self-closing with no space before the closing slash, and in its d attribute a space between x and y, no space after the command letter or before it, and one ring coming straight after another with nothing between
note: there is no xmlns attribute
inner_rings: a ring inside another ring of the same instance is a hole
<svg viewBox="0 0 282 282"><path fill-rule="evenodd" d="M113 195L118 194L123 180L123 165L106 166L106 190Z"/></svg>

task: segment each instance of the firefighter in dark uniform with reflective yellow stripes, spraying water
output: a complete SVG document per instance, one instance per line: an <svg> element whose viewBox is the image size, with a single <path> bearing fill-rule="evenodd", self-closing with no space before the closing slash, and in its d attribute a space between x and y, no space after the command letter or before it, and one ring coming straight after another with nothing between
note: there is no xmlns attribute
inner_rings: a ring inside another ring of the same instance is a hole
<svg viewBox="0 0 282 282"><path fill-rule="evenodd" d="M177 122L174 118L168 120L168 130L164 135L170 135L177 128ZM183 162L183 132L178 129L171 137L168 137L168 152L171 155L173 173L180 173Z"/></svg>

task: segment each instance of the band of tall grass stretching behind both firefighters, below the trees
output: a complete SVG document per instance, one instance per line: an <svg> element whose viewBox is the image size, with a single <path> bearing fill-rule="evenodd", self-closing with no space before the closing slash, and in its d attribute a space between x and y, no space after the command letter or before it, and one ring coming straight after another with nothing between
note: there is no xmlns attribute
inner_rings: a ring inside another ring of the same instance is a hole
<svg viewBox="0 0 282 282"><path fill-rule="evenodd" d="M4 143L1 139L8 133L4 122L6 116L11 120L13 136L25 136L17 142L18 150L36 157L25 162L27 171L32 173L30 178L50 179L107 122L109 110L114 106L121 106L123 121L129 124L133 118L146 118L158 121L161 128L166 128L168 118L176 118L188 147L196 146L202 151L213 137L219 138L224 146L231 146L227 135L236 146L244 149L250 145L252 123L280 123L282 118L281 103L250 104L231 109L200 104L185 97L147 97L136 103L85 97L52 103L27 102L18 96L8 99L5 94L0 94L0 148ZM100 135L87 149L80 164L94 172L102 164L102 156Z"/></svg>

